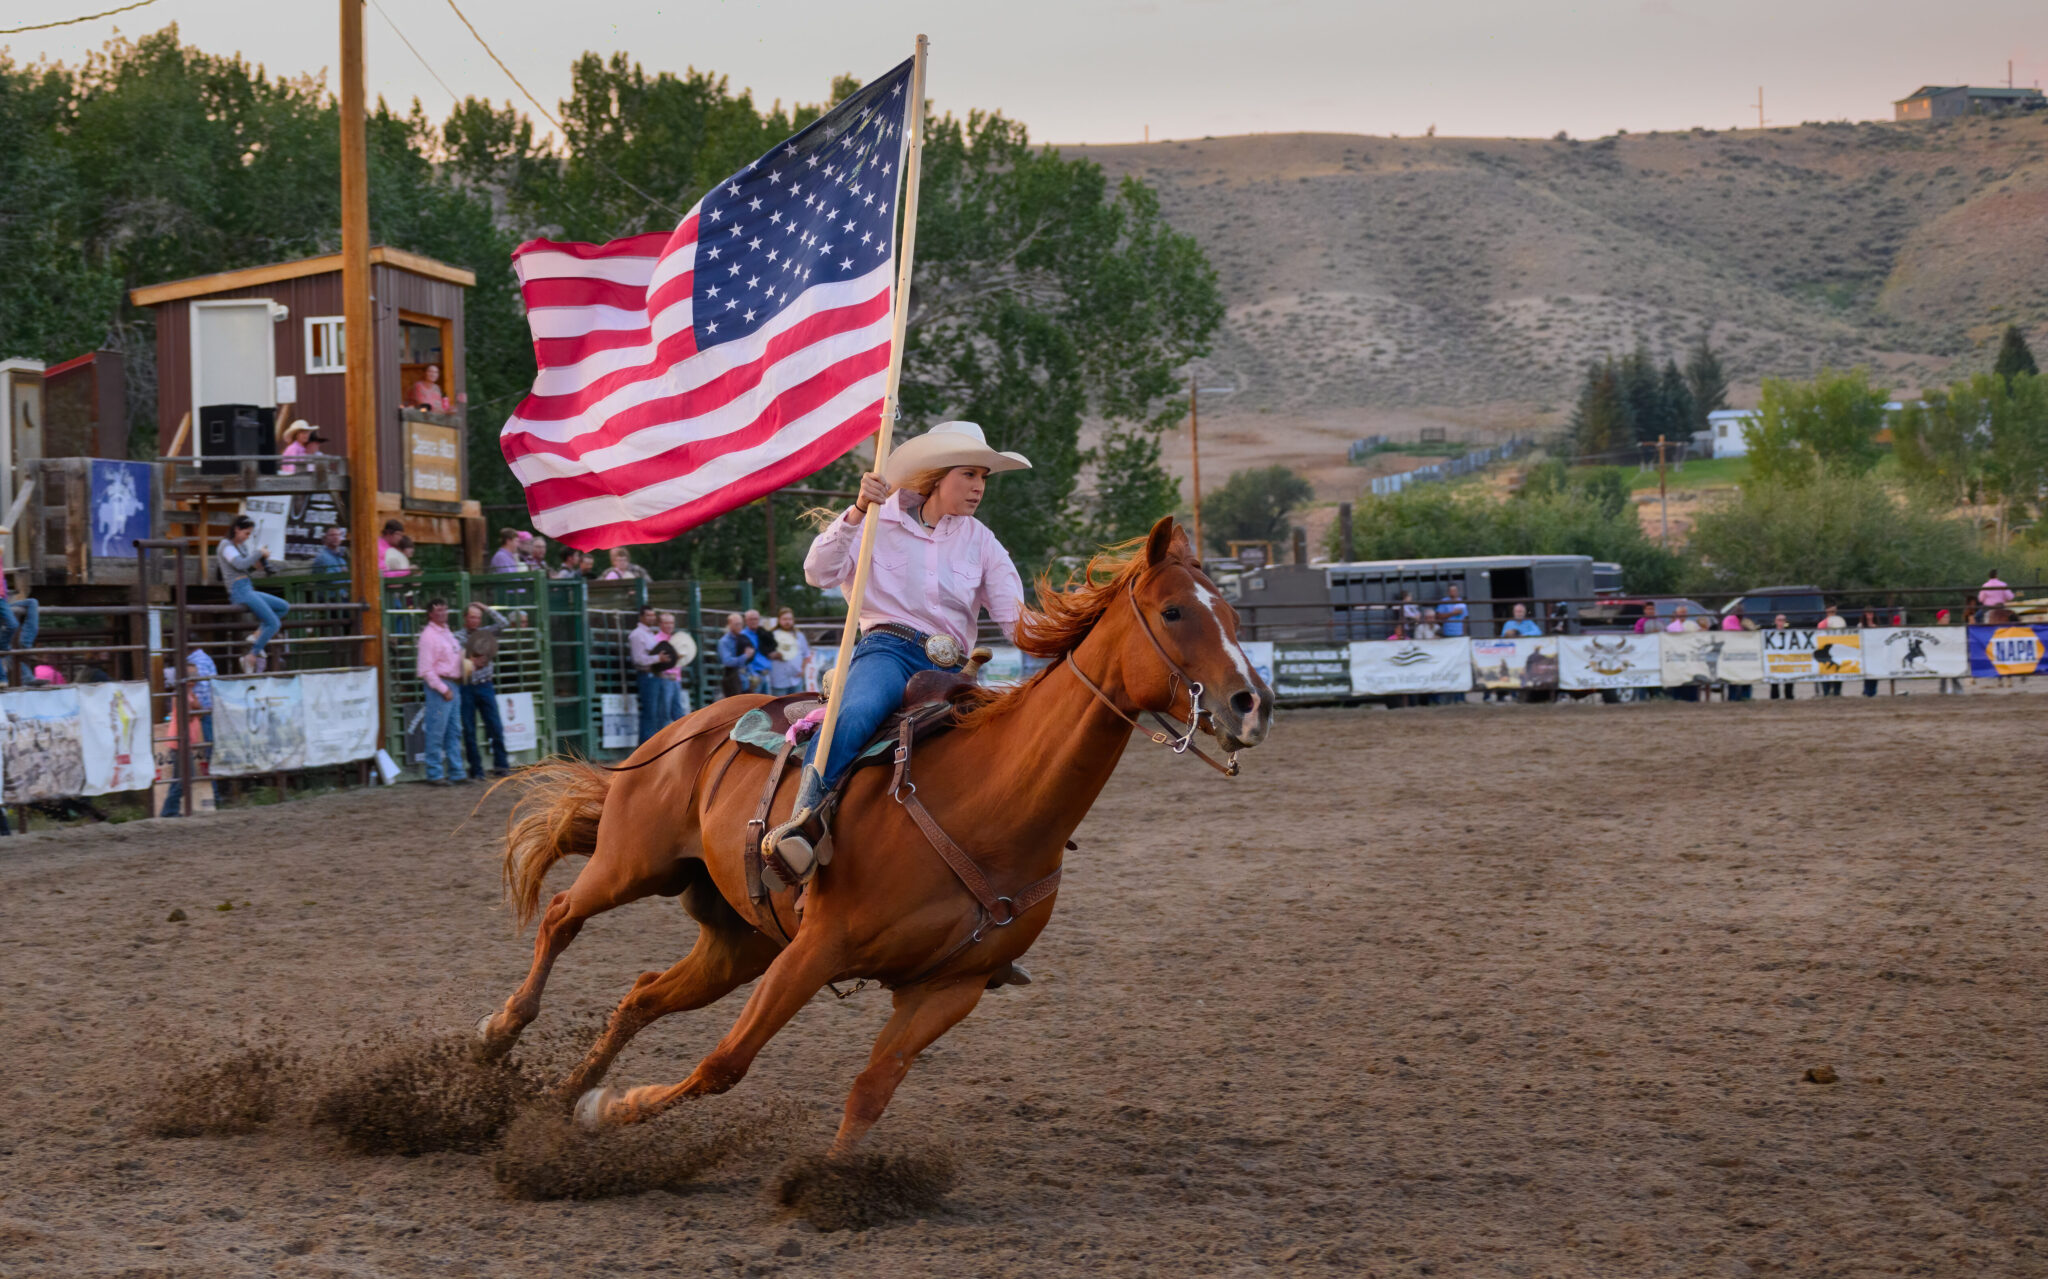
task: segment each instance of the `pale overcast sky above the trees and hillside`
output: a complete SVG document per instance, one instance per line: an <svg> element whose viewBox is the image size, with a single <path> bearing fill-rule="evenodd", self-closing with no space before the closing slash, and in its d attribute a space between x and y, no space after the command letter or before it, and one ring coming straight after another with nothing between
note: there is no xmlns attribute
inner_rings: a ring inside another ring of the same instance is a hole
<svg viewBox="0 0 2048 1279"><path fill-rule="evenodd" d="M393 35L395 18L457 94L516 90L446 0L367 10L371 94L414 96L440 119L449 92ZM111 8L113 0L0 0L0 27ZM1921 84L2048 80L2044 0L467 0L465 12L549 104L573 53L625 49L649 70L727 74L762 102L817 100L836 72L874 76L932 37L942 111L995 106L1042 141L1204 133L1421 133L1548 137L1569 129L1888 119ZM332 65L332 0L156 0L119 18L0 37L16 61L78 59L113 31L178 23L186 43L270 72Z"/></svg>

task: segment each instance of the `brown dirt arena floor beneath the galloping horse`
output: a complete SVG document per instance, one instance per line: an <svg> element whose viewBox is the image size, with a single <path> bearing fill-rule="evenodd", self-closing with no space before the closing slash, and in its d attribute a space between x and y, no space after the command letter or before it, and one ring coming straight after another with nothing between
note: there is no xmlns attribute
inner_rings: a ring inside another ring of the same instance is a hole
<svg viewBox="0 0 2048 1279"><path fill-rule="evenodd" d="M504 999L530 939L504 804L457 829L477 788L0 841L0 1275L2048 1273L2044 726L2030 696L1317 710L1237 782L1135 747L1036 984L877 1128L952 1189L831 1232L776 1185L872 990L698 1103L791 1121L676 1191L512 1199L489 1150L350 1154L293 1105L145 1136L180 1052L332 1058ZM537 1031L559 1056L692 927L594 921ZM737 1011L612 1078L682 1078Z"/></svg>

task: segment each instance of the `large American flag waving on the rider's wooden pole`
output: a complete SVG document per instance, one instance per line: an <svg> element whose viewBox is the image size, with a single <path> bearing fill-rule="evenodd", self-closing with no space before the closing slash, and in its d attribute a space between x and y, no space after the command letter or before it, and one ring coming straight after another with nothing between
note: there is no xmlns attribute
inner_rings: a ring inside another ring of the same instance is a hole
<svg viewBox="0 0 2048 1279"><path fill-rule="evenodd" d="M500 448L535 528L659 542L874 434L911 63L700 199L674 231L522 244L535 358Z"/></svg>

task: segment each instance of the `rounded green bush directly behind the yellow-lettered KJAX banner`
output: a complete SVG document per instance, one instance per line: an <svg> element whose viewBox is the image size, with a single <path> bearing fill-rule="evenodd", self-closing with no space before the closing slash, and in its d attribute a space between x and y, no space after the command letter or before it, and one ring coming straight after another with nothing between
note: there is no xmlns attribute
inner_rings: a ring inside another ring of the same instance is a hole
<svg viewBox="0 0 2048 1279"><path fill-rule="evenodd" d="M1737 591L1776 581L1829 589L1978 581L1989 559L1966 520L1901 501L1870 475L1815 475L1804 487L1743 485L1700 514L1688 585Z"/></svg>

